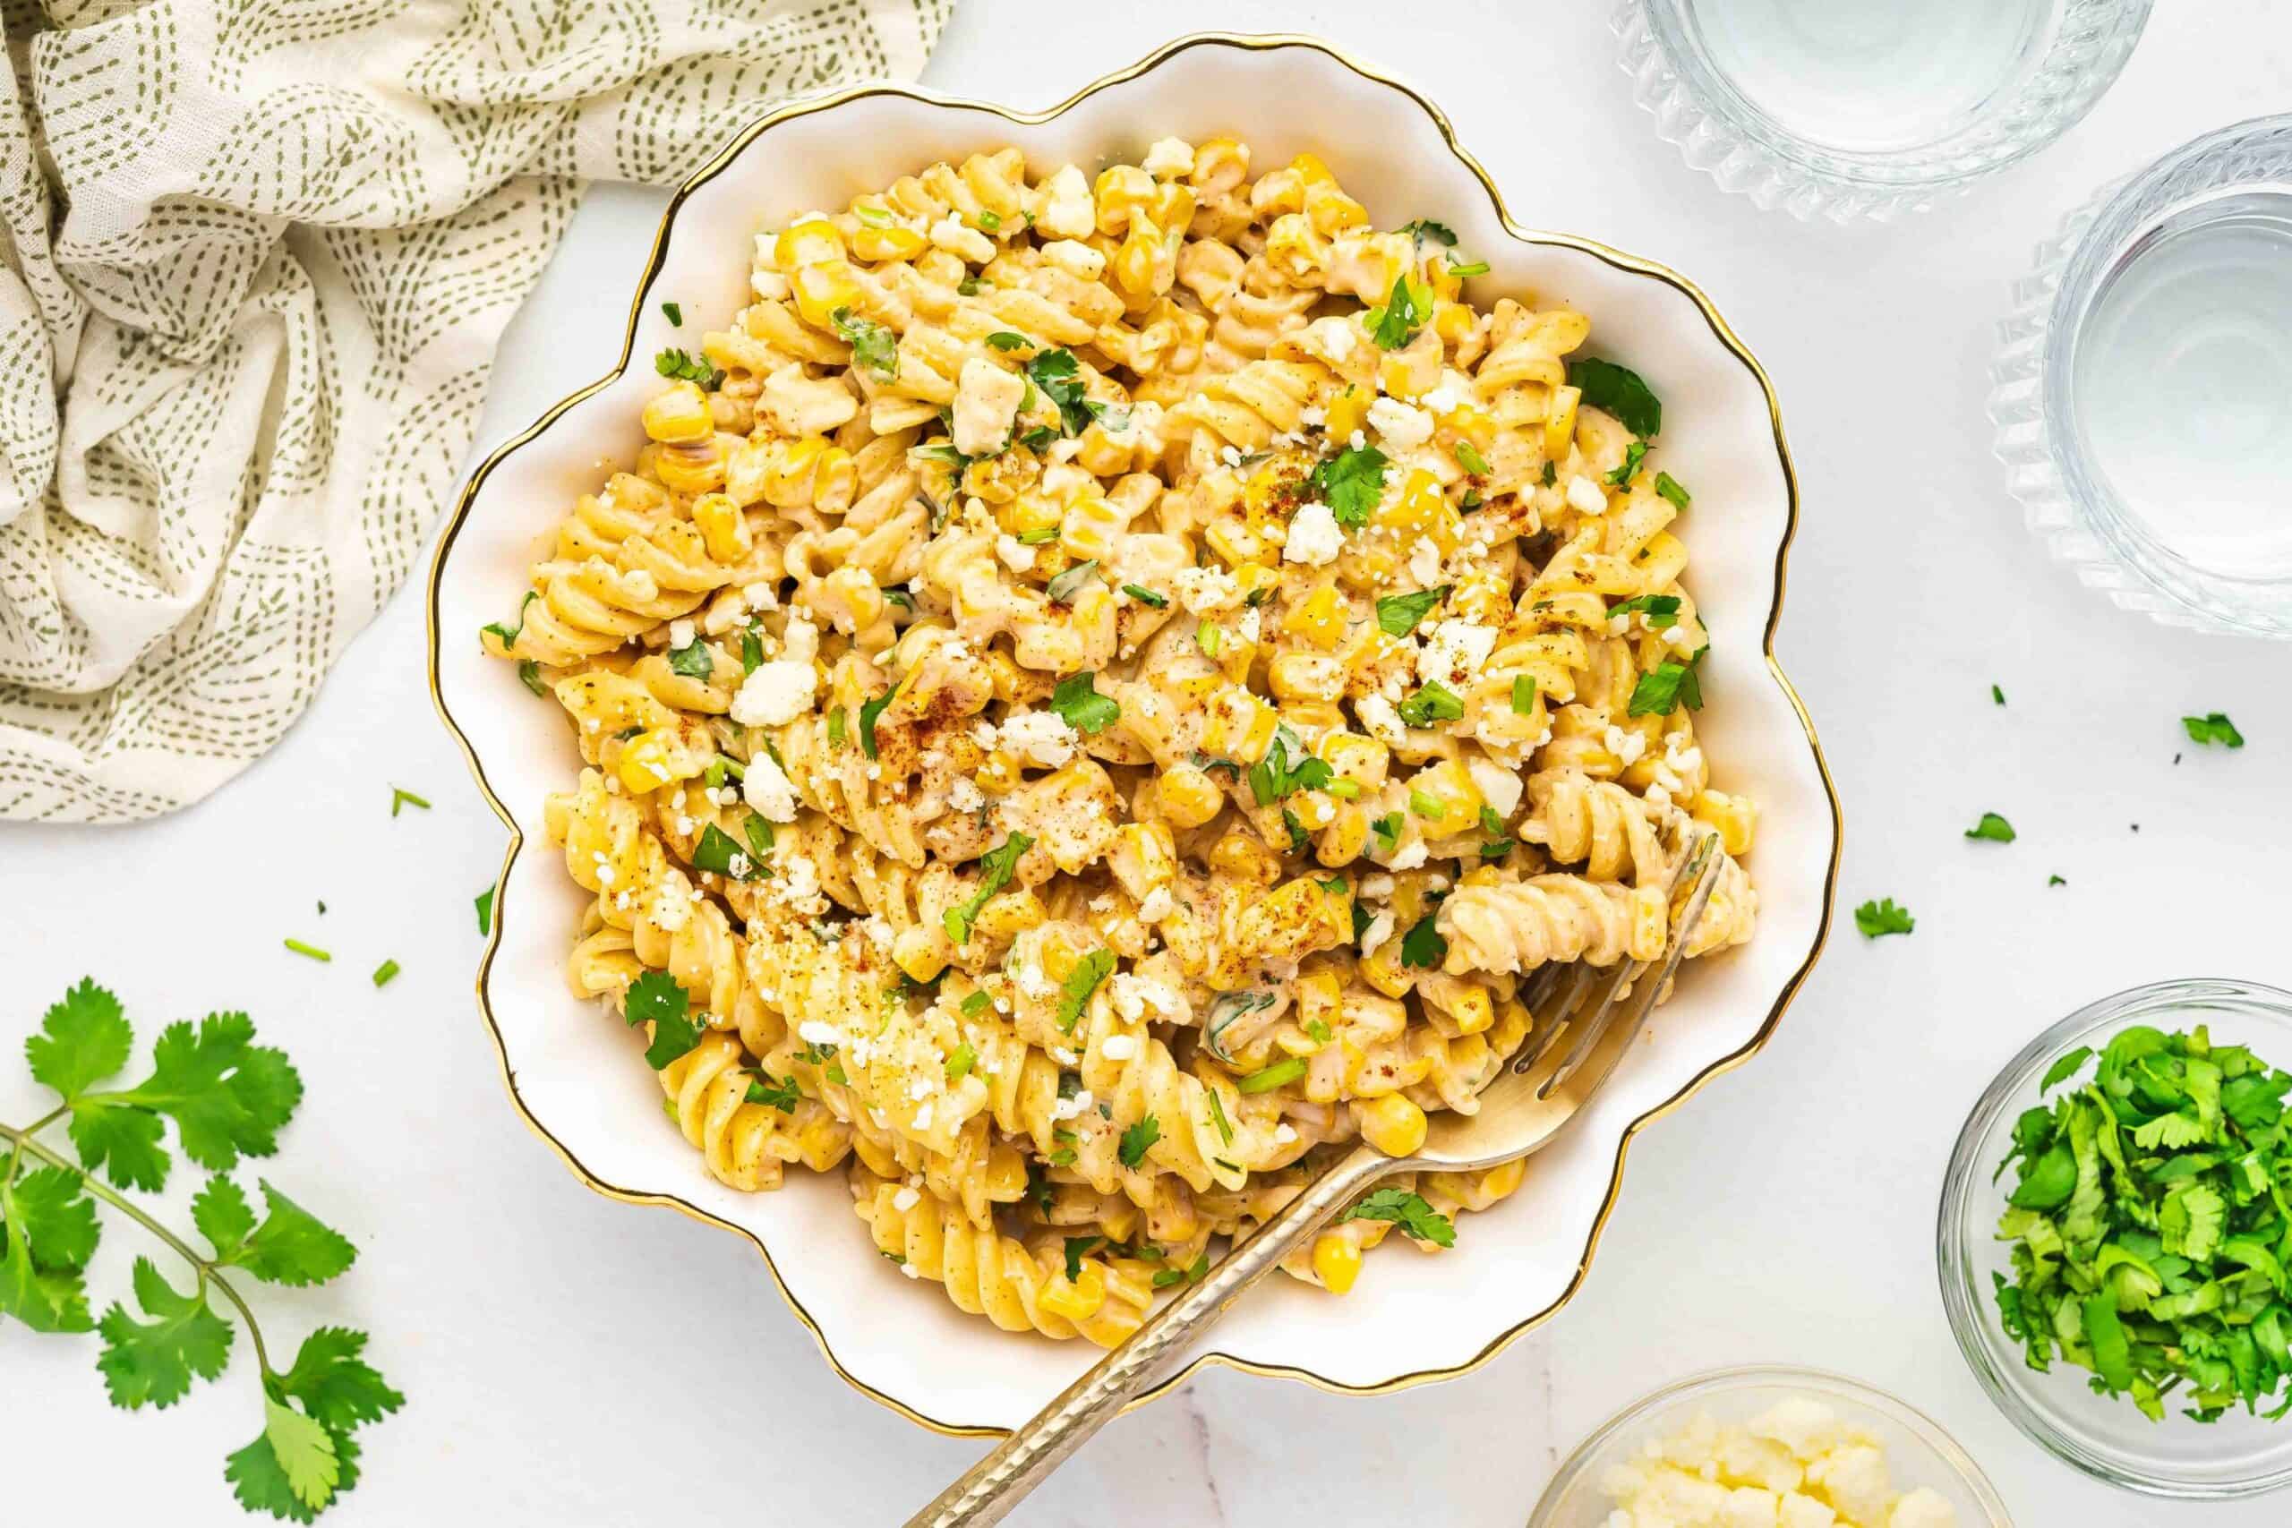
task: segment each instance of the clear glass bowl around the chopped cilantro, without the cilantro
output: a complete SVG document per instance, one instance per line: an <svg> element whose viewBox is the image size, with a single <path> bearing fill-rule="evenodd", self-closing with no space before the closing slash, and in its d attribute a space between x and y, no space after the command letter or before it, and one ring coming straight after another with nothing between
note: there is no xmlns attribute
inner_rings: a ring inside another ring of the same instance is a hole
<svg viewBox="0 0 2292 1528"><path fill-rule="evenodd" d="M2244 1411L2191 1423L2171 1409L2152 1423L2122 1395L2095 1395L2072 1363L2056 1358L2049 1375L2035 1372L1999 1326L1989 1274L2010 1278L2012 1265L1996 1239L2008 1189L1992 1173L2005 1159L2015 1118L2038 1104L2038 1081L2058 1056L2079 1045L2102 1049L2132 1024L2209 1024L2221 1045L2248 1045L2274 1065L2292 1058L2292 992L2244 980L2161 980L2104 997L2047 1029L2005 1063L1957 1132L1937 1228L1941 1306L1989 1400L2054 1457L2150 1496L2260 1496L2292 1484L2292 1425Z"/></svg>

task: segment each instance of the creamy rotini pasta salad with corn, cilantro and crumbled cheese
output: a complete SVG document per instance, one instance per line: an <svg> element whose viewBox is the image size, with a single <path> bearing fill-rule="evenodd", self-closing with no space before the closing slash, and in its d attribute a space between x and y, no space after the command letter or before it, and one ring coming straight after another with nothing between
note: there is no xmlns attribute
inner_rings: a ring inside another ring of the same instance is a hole
<svg viewBox="0 0 2292 1528"><path fill-rule="evenodd" d="M1474 1111L1540 967L1659 955L1685 822L1689 955L1749 939L1662 405L1481 273L1229 137L756 236L484 632L587 765L571 983L711 1175L843 1168L910 1278L1112 1345L1316 1152ZM1520 1180L1398 1180L1288 1271Z"/></svg>

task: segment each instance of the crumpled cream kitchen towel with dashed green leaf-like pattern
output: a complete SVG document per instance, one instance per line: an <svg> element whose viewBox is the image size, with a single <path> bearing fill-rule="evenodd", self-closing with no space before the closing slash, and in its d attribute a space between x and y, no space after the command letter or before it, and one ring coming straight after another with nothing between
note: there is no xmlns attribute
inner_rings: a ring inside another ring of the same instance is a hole
<svg viewBox="0 0 2292 1528"><path fill-rule="evenodd" d="M0 818L149 818L275 745L582 183L912 78L951 5L0 0Z"/></svg>

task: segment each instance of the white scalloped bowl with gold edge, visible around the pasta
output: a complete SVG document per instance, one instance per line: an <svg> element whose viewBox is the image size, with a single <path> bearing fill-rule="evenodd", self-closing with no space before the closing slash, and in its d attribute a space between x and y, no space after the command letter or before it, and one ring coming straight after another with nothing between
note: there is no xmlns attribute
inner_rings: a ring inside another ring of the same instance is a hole
<svg viewBox="0 0 2292 1528"><path fill-rule="evenodd" d="M724 323L743 302L749 234L763 222L841 206L896 174L1002 142L1020 144L1041 174L1063 160L1137 156L1160 135L1212 133L1245 137L1258 165L1320 153L1382 227L1449 222L1490 263L1474 282L1481 302L1536 293L1591 314L1595 348L1639 369L1664 399L1662 456L1696 493L1680 529L1712 632L1698 728L1717 783L1753 793L1763 809L1749 861L1763 923L1749 946L1680 976L1586 1118L1536 1157L1520 1194L1469 1216L1458 1251L1387 1251L1345 1299L1274 1278L1217 1326L1217 1352L1196 1363L1384 1391L1494 1356L1577 1290L1632 1132L1765 1042L1829 923L1838 809L1769 648L1795 522L1781 419L1758 364L1694 286L1591 241L1513 225L1430 103L1306 39L1185 39L1041 115L873 87L763 119L669 204L635 302L626 291L589 300L589 323L628 328L614 373L550 408L463 486L431 575L431 680L516 834L479 971L516 1106L589 1187L752 1237L837 1372L947 1432L1025 1420L1096 1349L1004 1336L903 1278L876 1255L839 1173L798 1171L784 1189L749 1196L701 1171L665 1123L628 1031L566 990L582 893L541 829L541 800L580 761L557 708L534 701L509 664L481 657L474 632L516 609L559 515L605 463L639 444L637 412L660 385L642 357L694 332L672 332L658 302L674 298L688 316Z"/></svg>

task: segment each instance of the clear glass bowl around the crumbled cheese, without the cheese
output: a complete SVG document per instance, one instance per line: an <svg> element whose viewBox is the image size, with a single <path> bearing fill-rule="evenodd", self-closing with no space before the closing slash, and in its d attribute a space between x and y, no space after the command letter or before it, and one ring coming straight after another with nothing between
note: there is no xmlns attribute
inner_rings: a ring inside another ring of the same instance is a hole
<svg viewBox="0 0 2292 1528"><path fill-rule="evenodd" d="M1820 1400L1850 1427L1873 1434L1886 1448L1895 1489L1939 1491L1957 1510L1957 1528L2012 1528L1980 1466L1930 1416L1845 1375L1781 1363L1694 1375L1632 1402L1577 1443L1536 1501L1529 1528L1604 1528L1614 1503L1600 1480L1611 1464L1636 1457L1650 1439L1673 1436L1698 1411L1719 1423L1747 1423L1792 1397Z"/></svg>

